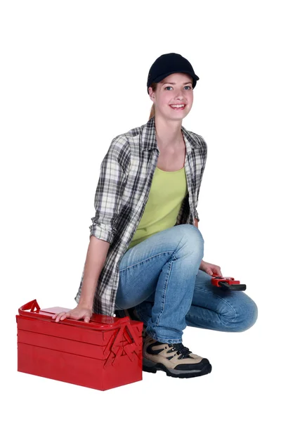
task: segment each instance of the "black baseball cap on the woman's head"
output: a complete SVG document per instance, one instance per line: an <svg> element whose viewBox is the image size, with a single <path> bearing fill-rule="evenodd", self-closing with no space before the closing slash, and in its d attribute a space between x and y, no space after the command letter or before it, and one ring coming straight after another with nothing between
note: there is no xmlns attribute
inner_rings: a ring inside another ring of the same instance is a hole
<svg viewBox="0 0 281 422"><path fill-rule="evenodd" d="M195 88L196 82L199 80L192 65L186 58L178 53L167 53L159 56L152 64L148 72L147 87L149 88L152 82L162 81L162 79L172 73L188 73L192 77L192 88Z"/></svg>

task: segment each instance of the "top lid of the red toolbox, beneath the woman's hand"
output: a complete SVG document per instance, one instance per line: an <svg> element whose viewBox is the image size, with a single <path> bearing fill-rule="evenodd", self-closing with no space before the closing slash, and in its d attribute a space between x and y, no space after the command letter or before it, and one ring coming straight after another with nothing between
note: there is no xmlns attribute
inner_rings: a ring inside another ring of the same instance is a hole
<svg viewBox="0 0 281 422"><path fill-rule="evenodd" d="M125 316L124 318L117 318L102 314L93 314L89 322L70 318L66 318L63 321L55 322L55 319L52 318L54 314L58 314L59 312L67 312L70 310L71 309L64 307L50 307L41 309L38 305L37 300L34 299L26 303L25 305L22 305L22 307L18 309L18 313L21 316L29 316L35 319L44 319L47 321L54 322L55 324L66 324L71 326L79 326L81 328L93 328L95 330L112 330L112 328L115 328L120 324L128 324L131 321L129 319L129 316Z"/></svg>

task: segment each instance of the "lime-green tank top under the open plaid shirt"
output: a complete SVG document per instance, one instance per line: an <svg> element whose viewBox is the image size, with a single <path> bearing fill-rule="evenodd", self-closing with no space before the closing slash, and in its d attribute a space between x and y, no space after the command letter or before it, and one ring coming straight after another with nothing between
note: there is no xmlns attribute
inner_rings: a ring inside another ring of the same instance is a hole
<svg viewBox="0 0 281 422"><path fill-rule="evenodd" d="M173 227L187 193L185 167L176 172L164 172L156 167L148 202L127 250L152 234Z"/></svg>

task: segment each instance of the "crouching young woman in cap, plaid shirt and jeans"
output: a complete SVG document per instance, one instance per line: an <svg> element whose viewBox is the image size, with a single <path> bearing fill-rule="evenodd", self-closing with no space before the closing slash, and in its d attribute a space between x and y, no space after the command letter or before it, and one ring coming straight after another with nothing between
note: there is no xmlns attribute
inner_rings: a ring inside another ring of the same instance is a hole
<svg viewBox="0 0 281 422"><path fill-rule="evenodd" d="M144 323L143 370L178 378L211 372L183 345L186 326L244 331L258 314L244 292L212 286L221 267L203 260L197 204L207 143L182 126L197 80L180 54L152 64L148 122L113 139L100 167L78 305L53 316L129 314Z"/></svg>

